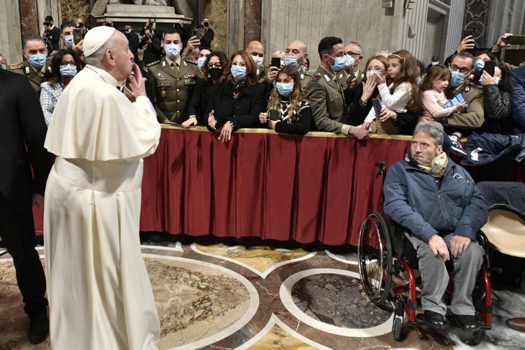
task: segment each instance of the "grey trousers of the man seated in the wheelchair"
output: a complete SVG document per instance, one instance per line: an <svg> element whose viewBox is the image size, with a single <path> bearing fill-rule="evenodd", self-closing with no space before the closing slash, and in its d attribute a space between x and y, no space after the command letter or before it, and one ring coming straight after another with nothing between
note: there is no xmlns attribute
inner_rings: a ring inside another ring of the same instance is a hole
<svg viewBox="0 0 525 350"><path fill-rule="evenodd" d="M476 313L472 304L472 291L476 283L476 275L483 263L483 248L476 241L471 241L467 250L454 258L454 270L450 276L445 267L443 258L436 257L430 249L428 243L419 239L417 236L405 234L411 241L417 252L419 259L419 272L423 281L423 292L421 294L421 305L423 310L430 310L445 315L447 306L443 300L443 295L447 289L448 280L452 278L454 291L450 303L451 311L456 315L474 315ZM450 239L454 234L443 237L450 251Z"/></svg>

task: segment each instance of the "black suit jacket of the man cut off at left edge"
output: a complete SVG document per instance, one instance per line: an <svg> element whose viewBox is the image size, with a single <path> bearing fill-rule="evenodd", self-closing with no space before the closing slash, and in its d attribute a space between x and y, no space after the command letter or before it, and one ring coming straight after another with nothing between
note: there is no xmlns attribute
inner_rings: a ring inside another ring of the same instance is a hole
<svg viewBox="0 0 525 350"><path fill-rule="evenodd" d="M30 206L33 193L44 195L51 170L51 155L44 149L46 132L29 80L0 69L0 191L15 211Z"/></svg>

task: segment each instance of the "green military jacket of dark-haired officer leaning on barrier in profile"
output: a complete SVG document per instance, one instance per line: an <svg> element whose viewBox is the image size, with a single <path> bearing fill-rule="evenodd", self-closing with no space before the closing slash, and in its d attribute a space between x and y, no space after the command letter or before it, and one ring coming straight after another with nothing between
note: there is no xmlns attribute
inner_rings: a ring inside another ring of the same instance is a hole
<svg viewBox="0 0 525 350"><path fill-rule="evenodd" d="M319 130L348 135L347 106L344 88L329 71L319 66L306 88L306 98L312 108L313 120Z"/></svg>

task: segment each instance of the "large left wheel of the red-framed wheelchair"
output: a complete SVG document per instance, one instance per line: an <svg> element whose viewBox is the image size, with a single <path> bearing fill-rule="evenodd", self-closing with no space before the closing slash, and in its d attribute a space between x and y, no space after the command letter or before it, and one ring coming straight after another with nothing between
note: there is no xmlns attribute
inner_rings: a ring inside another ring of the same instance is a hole
<svg viewBox="0 0 525 350"><path fill-rule="evenodd" d="M379 213L370 214L361 224L358 260L366 296L376 305L383 304L392 282L392 245L390 232Z"/></svg>

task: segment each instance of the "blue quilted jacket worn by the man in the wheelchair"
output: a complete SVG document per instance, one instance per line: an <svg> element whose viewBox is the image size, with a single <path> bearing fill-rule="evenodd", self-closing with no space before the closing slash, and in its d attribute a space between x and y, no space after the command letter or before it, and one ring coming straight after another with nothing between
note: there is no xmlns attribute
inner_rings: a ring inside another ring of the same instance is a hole
<svg viewBox="0 0 525 350"><path fill-rule="evenodd" d="M450 158L440 188L432 175L403 160L388 169L383 191L385 214L425 242L438 231L476 240L487 222L485 199L470 174Z"/></svg>

